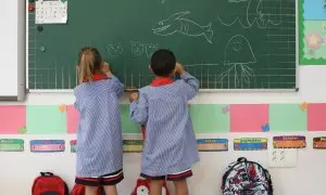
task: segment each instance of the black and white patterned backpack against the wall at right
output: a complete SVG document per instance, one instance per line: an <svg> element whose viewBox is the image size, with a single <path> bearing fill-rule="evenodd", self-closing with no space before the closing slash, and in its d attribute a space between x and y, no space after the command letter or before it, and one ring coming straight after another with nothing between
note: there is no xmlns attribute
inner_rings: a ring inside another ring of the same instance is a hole
<svg viewBox="0 0 326 195"><path fill-rule="evenodd" d="M268 170L244 157L227 167L221 188L223 195L273 195Z"/></svg>

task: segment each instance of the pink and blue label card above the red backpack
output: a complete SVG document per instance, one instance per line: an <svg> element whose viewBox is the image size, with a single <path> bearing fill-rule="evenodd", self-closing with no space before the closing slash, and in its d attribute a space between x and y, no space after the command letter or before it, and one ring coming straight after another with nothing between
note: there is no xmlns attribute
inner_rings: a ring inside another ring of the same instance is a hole
<svg viewBox="0 0 326 195"><path fill-rule="evenodd" d="M64 140L32 140L32 153L58 153L64 152Z"/></svg>

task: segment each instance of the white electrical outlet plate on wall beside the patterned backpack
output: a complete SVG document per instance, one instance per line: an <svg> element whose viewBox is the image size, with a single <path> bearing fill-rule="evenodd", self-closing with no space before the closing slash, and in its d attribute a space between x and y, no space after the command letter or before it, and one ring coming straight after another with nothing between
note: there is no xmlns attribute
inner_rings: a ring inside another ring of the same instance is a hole
<svg viewBox="0 0 326 195"><path fill-rule="evenodd" d="M268 167L294 168L298 162L298 150L274 148L268 150Z"/></svg>

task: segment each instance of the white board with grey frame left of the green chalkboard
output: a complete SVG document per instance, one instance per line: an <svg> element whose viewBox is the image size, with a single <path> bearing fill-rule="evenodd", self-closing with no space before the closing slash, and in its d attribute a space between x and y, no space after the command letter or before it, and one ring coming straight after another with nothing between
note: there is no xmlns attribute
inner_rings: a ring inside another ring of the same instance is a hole
<svg viewBox="0 0 326 195"><path fill-rule="evenodd" d="M1 1L0 100L25 99L25 8L22 0Z"/></svg>

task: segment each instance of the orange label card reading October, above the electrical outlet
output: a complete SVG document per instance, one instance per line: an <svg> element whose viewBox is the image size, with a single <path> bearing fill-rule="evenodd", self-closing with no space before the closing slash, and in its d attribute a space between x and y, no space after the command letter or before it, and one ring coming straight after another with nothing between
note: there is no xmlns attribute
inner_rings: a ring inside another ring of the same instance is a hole
<svg viewBox="0 0 326 195"><path fill-rule="evenodd" d="M305 147L305 136L292 135L292 136L274 136L274 148L302 148Z"/></svg>

